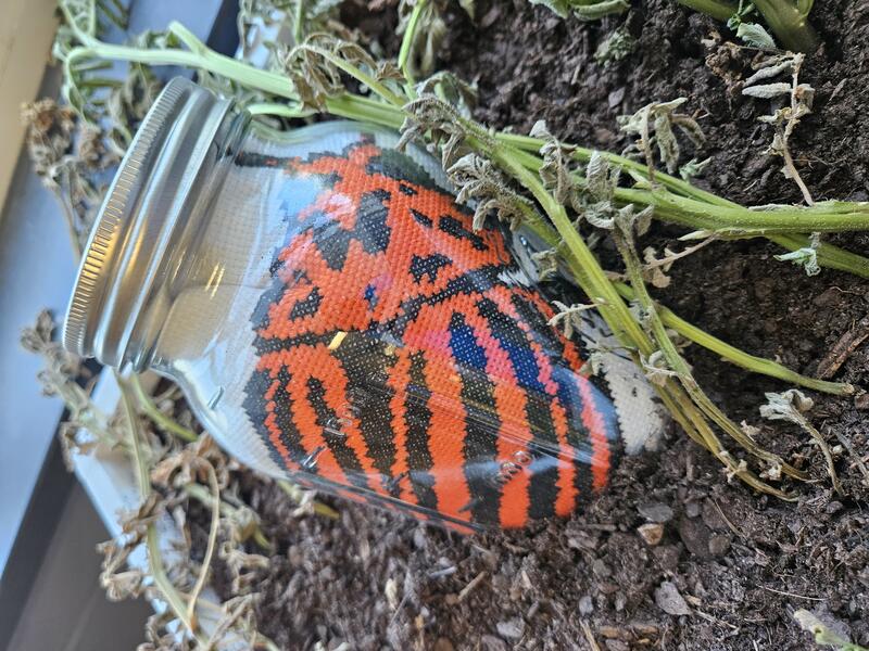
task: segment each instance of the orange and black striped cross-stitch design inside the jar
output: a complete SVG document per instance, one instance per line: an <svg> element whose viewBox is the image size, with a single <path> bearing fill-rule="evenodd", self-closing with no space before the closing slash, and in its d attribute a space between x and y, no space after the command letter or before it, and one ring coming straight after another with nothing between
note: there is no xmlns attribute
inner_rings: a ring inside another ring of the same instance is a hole
<svg viewBox="0 0 869 651"><path fill-rule="evenodd" d="M606 485L614 403L503 230L475 232L370 138L237 164L313 188L252 315L244 409L281 468L459 529L566 515Z"/></svg>

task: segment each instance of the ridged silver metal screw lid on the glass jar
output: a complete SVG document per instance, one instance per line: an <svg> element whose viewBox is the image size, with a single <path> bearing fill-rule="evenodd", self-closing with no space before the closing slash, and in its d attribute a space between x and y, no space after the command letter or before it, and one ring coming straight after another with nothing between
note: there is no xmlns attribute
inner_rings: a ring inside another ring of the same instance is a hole
<svg viewBox="0 0 869 651"><path fill-rule="evenodd" d="M134 336L137 323L173 233L222 156L231 107L181 77L160 93L91 229L64 322L67 350L113 367L141 359L148 342Z"/></svg>

